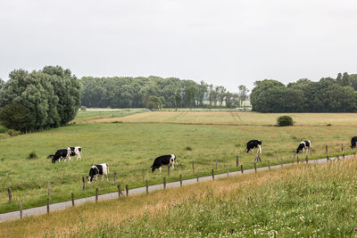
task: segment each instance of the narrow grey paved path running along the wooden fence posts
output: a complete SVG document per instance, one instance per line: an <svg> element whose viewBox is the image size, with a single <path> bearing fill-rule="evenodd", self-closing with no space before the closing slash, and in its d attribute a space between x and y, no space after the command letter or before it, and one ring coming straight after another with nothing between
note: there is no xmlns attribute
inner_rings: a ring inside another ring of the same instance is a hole
<svg viewBox="0 0 357 238"><path fill-rule="evenodd" d="M345 156L345 159L351 158L353 155L347 155ZM336 157L329 158L329 160L336 160ZM304 161L303 161L304 162ZM320 160L309 160L309 163L326 163L327 159L320 159ZM295 162L296 163L296 162ZM284 166L291 166L291 163L284 164ZM275 165L275 166L270 166L270 168L281 168L281 165ZM257 171L263 171L263 170L268 170L268 167L262 167L262 168L257 168ZM254 168L250 169L245 169L244 173L253 173ZM229 172L229 176L237 176L242 174L241 171L236 171L236 172ZM220 175L214 175L215 178L220 178L220 177L226 177L227 173L220 174ZM199 178L199 181L207 181L207 180L212 180L212 176L203 176ZM191 178L187 180L182 181L182 185L190 185L190 184L195 184L197 183L197 178ZM166 184L167 188L170 187L178 187L179 181L177 182L171 182ZM160 190L163 189L163 185L151 185L149 186L149 192L155 191L155 190ZM125 193L125 191L123 192ZM129 196L139 194L139 193L146 193L146 187L138 187L134 189L129 189ZM125 194L124 194L125 195ZM114 199L118 198L118 192L115 193L106 193L98 196L98 200L108 200L108 199ZM87 197L87 198L81 198L81 199L76 199L74 201L75 205L79 205L81 203L87 202L87 201L95 201L95 196L92 197ZM71 201L63 201L59 203L54 203L50 204L50 212L59 210L59 209L66 209L72 206ZM39 215L39 214L46 214L47 212L47 207L37 207L37 208L32 208L32 209L23 209L22 210L22 217L27 217L27 216L32 216L32 215ZM20 211L12 211L8 213L3 213L0 214L0 222L4 222L6 220L13 220L13 219L19 219L20 218Z"/></svg>

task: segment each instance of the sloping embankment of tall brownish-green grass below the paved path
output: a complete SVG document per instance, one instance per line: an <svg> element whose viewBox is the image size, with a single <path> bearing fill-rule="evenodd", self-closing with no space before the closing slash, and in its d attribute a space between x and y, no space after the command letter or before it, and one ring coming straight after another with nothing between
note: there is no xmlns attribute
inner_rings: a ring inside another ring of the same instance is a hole
<svg viewBox="0 0 357 238"><path fill-rule="evenodd" d="M357 158L231 176L0 224L10 237L345 237Z"/></svg>

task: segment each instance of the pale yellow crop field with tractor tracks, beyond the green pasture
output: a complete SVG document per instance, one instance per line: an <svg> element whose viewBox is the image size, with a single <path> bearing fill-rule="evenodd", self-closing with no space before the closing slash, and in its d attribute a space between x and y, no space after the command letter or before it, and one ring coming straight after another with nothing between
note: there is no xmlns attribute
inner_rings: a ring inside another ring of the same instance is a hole
<svg viewBox="0 0 357 238"><path fill-rule="evenodd" d="M217 124L273 126L281 115L291 116L295 126L355 126L357 113L258 113L252 111L150 111L120 119L98 119L99 122L149 122L178 124Z"/></svg>

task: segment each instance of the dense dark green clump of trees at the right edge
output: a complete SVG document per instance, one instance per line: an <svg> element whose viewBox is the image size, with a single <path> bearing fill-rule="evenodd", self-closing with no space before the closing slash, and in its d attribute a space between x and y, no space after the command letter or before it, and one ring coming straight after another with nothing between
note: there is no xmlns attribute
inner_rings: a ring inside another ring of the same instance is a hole
<svg viewBox="0 0 357 238"><path fill-rule="evenodd" d="M356 112L357 74L339 73L318 82L303 78L286 86L272 79L256 81L251 103L259 112Z"/></svg>

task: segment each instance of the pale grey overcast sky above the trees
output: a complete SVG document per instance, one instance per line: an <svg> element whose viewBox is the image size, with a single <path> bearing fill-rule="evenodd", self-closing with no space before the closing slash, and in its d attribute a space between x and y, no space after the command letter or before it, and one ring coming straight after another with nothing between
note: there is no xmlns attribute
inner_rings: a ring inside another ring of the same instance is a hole
<svg viewBox="0 0 357 238"><path fill-rule="evenodd" d="M160 76L253 88L357 72L355 0L0 0L0 78Z"/></svg>

